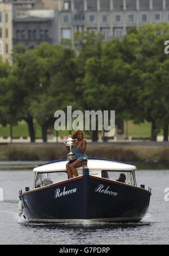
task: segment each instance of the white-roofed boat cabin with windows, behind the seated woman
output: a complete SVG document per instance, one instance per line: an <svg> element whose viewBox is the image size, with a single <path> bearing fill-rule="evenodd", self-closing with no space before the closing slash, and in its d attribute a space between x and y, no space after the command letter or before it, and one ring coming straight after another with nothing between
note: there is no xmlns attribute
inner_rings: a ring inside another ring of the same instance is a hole
<svg viewBox="0 0 169 256"><path fill-rule="evenodd" d="M67 163L68 161L66 160L56 160L34 168L34 189L68 180L68 174L66 173ZM120 161L94 158L88 159L87 167L91 176L107 178L113 181L117 181L119 175L124 173L126 175L126 184L137 186L135 178L135 165ZM82 167L77 168L77 171L79 176L83 175Z"/></svg>

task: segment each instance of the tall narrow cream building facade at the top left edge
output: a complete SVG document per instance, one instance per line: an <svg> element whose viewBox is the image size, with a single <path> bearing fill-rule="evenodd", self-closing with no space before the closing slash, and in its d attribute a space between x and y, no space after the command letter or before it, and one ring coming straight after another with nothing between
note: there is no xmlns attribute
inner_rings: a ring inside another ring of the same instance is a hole
<svg viewBox="0 0 169 256"><path fill-rule="evenodd" d="M5 62L12 62L12 17L11 4L0 2L0 41L3 43L2 58Z"/></svg>

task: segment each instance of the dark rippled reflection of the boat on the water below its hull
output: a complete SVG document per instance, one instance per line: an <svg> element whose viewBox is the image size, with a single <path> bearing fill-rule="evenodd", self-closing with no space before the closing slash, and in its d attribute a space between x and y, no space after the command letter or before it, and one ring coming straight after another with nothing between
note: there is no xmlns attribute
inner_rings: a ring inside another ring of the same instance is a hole
<svg viewBox="0 0 169 256"><path fill-rule="evenodd" d="M18 223L23 231L36 234L36 244L59 245L113 245L113 244L146 244L140 240L154 223L56 223L34 224L27 221ZM43 235L42 235L43 232ZM135 239L133 239L135 236ZM45 240L43 240L45 238ZM131 241L132 238L132 241ZM33 242L34 244L34 242Z"/></svg>

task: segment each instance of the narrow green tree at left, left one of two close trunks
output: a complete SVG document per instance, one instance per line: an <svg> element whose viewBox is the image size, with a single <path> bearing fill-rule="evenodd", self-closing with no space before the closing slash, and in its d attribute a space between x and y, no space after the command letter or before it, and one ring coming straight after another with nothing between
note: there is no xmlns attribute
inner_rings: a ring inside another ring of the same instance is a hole
<svg viewBox="0 0 169 256"><path fill-rule="evenodd" d="M34 50L26 50L23 46L16 46L13 55L15 63L8 81L8 87L14 95L14 103L11 107L18 109L20 120L25 120L28 123L31 142L35 142L30 106L41 89L37 57Z"/></svg>

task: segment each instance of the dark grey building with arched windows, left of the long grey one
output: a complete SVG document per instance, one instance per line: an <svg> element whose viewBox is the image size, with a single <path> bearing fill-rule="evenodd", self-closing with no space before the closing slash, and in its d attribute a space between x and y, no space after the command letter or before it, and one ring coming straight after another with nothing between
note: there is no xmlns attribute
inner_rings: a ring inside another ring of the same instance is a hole
<svg viewBox="0 0 169 256"><path fill-rule="evenodd" d="M13 45L33 49L48 42L57 44L57 10L17 10L13 19Z"/></svg>

